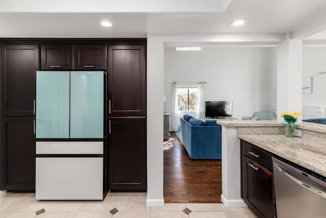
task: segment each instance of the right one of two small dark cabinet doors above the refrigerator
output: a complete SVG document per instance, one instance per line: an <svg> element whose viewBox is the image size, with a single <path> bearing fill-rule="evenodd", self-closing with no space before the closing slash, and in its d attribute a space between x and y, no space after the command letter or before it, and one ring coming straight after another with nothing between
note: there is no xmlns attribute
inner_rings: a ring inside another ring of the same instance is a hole
<svg viewBox="0 0 326 218"><path fill-rule="evenodd" d="M74 69L106 69L106 45L74 45Z"/></svg>

